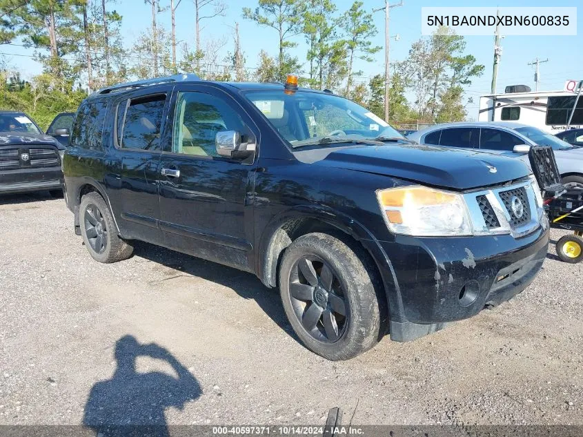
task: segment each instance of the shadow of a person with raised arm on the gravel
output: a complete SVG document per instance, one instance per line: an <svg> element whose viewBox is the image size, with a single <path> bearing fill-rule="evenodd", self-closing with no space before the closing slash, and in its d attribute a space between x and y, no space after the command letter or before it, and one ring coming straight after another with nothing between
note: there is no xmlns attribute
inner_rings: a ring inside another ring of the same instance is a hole
<svg viewBox="0 0 583 437"><path fill-rule="evenodd" d="M166 361L177 378L159 371L137 373L139 356ZM169 436L164 410L183 409L202 394L190 371L158 344L123 336L115 344L115 360L114 375L93 385L85 405L83 425L97 436Z"/></svg>

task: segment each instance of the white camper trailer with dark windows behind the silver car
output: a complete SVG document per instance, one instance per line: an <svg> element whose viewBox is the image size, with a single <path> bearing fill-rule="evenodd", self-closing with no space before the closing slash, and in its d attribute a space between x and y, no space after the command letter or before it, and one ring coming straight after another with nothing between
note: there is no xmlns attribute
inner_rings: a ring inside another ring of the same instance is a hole
<svg viewBox="0 0 583 437"><path fill-rule="evenodd" d="M480 122L520 122L555 134L583 128L583 81L566 81L564 90L504 93L480 97ZM569 119L571 118L571 124Z"/></svg>

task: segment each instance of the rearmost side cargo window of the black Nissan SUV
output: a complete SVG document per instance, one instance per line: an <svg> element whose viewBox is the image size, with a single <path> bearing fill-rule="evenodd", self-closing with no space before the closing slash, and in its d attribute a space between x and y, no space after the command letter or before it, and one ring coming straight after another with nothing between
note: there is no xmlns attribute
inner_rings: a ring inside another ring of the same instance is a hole
<svg viewBox="0 0 583 437"><path fill-rule="evenodd" d="M83 104L77 111L73 124L70 145L82 148L101 149L103 121L107 104L103 101Z"/></svg>

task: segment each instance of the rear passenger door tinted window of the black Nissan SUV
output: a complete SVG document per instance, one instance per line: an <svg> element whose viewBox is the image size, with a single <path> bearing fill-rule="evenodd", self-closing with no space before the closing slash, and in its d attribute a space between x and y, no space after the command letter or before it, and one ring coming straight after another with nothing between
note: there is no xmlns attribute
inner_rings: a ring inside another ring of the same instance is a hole
<svg viewBox="0 0 583 437"><path fill-rule="evenodd" d="M121 147L159 150L162 113L166 95L132 99L126 110Z"/></svg>

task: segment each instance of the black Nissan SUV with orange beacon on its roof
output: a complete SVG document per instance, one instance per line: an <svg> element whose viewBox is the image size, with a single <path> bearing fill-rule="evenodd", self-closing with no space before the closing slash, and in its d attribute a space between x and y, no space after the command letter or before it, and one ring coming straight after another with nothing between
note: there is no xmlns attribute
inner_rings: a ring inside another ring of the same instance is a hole
<svg viewBox="0 0 583 437"><path fill-rule="evenodd" d="M330 360L512 298L549 242L519 160L412 144L293 81L179 75L100 90L77 111L64 175L95 260L144 240L255 273Z"/></svg>

